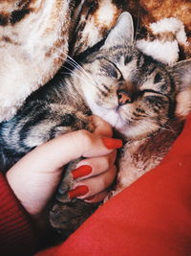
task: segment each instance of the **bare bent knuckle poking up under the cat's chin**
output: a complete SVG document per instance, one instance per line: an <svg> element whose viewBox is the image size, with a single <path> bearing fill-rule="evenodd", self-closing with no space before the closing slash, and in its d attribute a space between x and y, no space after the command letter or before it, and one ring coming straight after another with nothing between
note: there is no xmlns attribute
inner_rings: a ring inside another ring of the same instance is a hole
<svg viewBox="0 0 191 256"><path fill-rule="evenodd" d="M102 120L100 117L96 115L93 115L91 118L95 125L94 134L99 135L101 137L113 136L112 127L106 121Z"/></svg>

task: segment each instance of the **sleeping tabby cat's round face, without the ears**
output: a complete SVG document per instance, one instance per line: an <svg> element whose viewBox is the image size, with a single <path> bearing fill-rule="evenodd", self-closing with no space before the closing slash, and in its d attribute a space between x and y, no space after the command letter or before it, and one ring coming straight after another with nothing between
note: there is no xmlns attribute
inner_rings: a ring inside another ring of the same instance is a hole
<svg viewBox="0 0 191 256"><path fill-rule="evenodd" d="M91 58L90 58L91 60ZM128 138L163 126L174 109L175 90L162 65L132 47L105 50L92 65L93 84L84 84L92 112Z"/></svg>

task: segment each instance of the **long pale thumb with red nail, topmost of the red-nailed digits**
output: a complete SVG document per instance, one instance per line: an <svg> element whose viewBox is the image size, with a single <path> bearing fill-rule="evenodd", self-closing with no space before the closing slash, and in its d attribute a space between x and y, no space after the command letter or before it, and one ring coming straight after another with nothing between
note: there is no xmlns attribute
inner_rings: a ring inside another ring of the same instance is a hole
<svg viewBox="0 0 191 256"><path fill-rule="evenodd" d="M52 141L34 149L33 153L38 154L39 151L44 153L43 164L46 162L46 167L49 170L53 170L61 168L81 156L96 157L105 155L121 146L121 140L100 138L87 130L77 130L54 138Z"/></svg>

